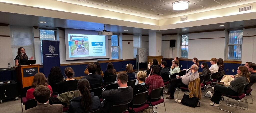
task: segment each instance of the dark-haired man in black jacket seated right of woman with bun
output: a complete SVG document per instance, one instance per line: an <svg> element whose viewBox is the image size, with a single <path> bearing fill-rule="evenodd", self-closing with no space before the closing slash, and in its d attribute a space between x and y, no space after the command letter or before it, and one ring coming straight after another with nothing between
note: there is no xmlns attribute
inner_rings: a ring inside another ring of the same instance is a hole
<svg viewBox="0 0 256 113"><path fill-rule="evenodd" d="M91 85L91 89L93 88L99 88L102 86L102 77L101 75L95 74L97 65L94 63L89 63L87 65L88 69L88 76L84 76L82 79L87 79Z"/></svg>

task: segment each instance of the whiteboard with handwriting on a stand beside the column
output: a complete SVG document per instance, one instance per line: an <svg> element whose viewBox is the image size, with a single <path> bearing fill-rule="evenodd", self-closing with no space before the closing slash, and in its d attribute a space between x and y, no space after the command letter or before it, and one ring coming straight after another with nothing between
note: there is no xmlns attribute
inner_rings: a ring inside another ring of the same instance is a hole
<svg viewBox="0 0 256 113"><path fill-rule="evenodd" d="M148 48L137 48L138 62L147 62Z"/></svg>

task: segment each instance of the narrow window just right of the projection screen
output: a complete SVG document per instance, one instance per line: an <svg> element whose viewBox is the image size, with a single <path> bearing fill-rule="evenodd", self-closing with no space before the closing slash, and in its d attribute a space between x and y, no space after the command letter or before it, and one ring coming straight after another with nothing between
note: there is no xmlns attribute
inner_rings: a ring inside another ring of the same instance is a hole
<svg viewBox="0 0 256 113"><path fill-rule="evenodd" d="M112 59L119 59L118 49L119 49L119 38L118 35L111 36L111 55Z"/></svg>

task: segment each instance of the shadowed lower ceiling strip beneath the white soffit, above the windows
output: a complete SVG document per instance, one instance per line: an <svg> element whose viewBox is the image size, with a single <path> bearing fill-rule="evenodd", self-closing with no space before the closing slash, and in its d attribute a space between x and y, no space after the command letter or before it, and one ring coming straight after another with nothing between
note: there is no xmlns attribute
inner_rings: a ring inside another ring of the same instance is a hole
<svg viewBox="0 0 256 113"><path fill-rule="evenodd" d="M8 13L8 12L0 12L0 15L1 15L0 23L8 23L10 25L39 26L39 27L45 27L45 28L64 27L64 28L95 30L95 31L102 31L104 28L104 24L102 23L23 15L23 14ZM47 23L39 23L39 21L45 21ZM223 24L225 26L219 27L220 24ZM171 30L162 30L161 32L162 34L187 33L187 32L193 32L193 31L213 30L213 29L223 29L223 28L225 29L242 28L244 26L253 26L253 25L256 25L256 19L178 28L178 29L171 29ZM183 29L187 29L187 31L183 31ZM109 24L106 24L106 30L115 32L115 33L148 34L148 29L126 27L126 26L119 26L119 25L109 25ZM124 31L124 30L129 30L129 31Z"/></svg>

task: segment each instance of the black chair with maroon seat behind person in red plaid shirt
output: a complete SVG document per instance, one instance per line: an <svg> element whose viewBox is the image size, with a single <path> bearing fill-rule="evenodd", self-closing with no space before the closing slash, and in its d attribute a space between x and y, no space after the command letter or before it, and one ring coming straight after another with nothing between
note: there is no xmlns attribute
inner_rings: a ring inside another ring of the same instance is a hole
<svg viewBox="0 0 256 113"><path fill-rule="evenodd" d="M164 103L163 90L164 90L164 87L152 90L150 95L148 96L146 103L151 107L161 104L161 103ZM161 98L161 97L163 97L163 98ZM165 103L164 103L164 108L165 108L165 112L166 112ZM156 111L153 111L153 112L156 112Z"/></svg>

